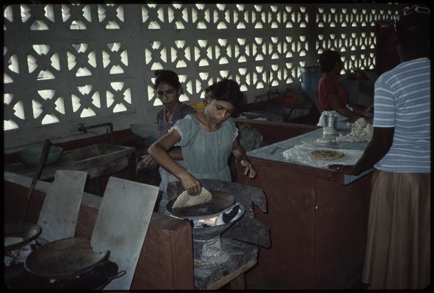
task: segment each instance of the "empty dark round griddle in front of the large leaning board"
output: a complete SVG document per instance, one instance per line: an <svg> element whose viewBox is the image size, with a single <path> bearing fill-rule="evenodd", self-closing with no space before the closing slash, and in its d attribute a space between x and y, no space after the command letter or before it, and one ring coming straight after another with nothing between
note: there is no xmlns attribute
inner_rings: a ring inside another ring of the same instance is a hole
<svg viewBox="0 0 434 293"><path fill-rule="evenodd" d="M109 255L110 250L93 252L85 237L71 237L37 248L25 259L24 268L36 276L64 279L91 270L108 259Z"/></svg>

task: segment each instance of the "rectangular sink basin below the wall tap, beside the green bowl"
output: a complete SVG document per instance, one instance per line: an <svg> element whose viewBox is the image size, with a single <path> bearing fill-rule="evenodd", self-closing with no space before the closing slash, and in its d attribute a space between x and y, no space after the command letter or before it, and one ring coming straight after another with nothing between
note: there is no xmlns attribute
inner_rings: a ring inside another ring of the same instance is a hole
<svg viewBox="0 0 434 293"><path fill-rule="evenodd" d="M112 175L127 169L130 164L130 156L135 151L136 148L131 146L110 143L93 144L71 151L64 151L58 162L43 168L39 179L48 180L54 178L57 170L86 171L90 179ZM15 165L9 171L29 177L34 176L35 167L24 166L22 163Z"/></svg>

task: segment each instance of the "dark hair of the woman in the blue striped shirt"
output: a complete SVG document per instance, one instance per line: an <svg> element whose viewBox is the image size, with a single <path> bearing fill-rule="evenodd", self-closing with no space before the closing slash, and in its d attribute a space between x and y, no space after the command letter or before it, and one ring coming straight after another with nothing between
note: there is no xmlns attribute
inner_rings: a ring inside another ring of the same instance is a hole
<svg viewBox="0 0 434 293"><path fill-rule="evenodd" d="M424 50L430 39L431 10L423 5L406 7L395 18L395 36L402 45Z"/></svg>

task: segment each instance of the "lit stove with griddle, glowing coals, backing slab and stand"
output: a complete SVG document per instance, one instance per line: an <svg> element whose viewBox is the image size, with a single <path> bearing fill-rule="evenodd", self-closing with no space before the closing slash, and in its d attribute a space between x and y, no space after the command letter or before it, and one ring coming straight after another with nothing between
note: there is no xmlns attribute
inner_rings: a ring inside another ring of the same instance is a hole
<svg viewBox="0 0 434 293"><path fill-rule="evenodd" d="M185 189L181 182L169 182L165 214L192 223L194 285L199 290L215 290L218 287L211 283L256 263L257 246L270 246L269 228L254 215L254 206L267 212L267 199L260 188L220 180L199 181L213 199L215 194L222 193L221 200L210 203L207 209L196 206L176 215L171 202Z"/></svg>

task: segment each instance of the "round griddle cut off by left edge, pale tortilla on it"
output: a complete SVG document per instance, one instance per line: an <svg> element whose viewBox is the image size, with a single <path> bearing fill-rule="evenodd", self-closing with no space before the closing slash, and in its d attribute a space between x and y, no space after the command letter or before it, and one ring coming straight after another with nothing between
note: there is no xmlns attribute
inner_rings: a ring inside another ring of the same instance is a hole
<svg viewBox="0 0 434 293"><path fill-rule="evenodd" d="M42 228L32 223L5 224L5 251L22 248L41 235Z"/></svg>

